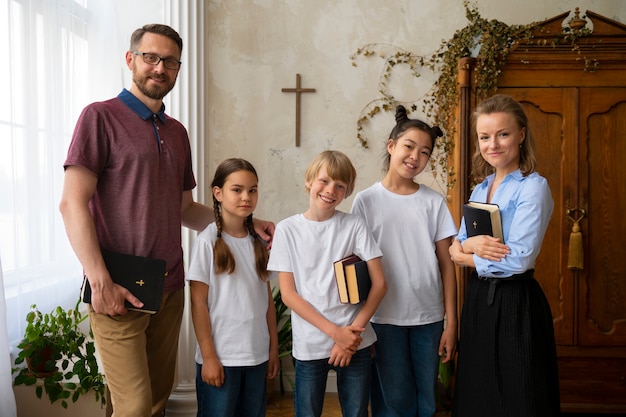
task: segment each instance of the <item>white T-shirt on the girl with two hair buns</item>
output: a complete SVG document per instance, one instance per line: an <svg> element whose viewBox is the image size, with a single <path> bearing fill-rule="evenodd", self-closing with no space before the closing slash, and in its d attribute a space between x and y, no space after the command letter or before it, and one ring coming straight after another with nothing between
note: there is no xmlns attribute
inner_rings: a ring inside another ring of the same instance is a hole
<svg viewBox="0 0 626 417"><path fill-rule="evenodd" d="M363 216L383 251L387 294L371 321L415 326L443 320L435 243L457 234L444 197L421 184L400 195L377 182L356 195L352 212Z"/></svg>

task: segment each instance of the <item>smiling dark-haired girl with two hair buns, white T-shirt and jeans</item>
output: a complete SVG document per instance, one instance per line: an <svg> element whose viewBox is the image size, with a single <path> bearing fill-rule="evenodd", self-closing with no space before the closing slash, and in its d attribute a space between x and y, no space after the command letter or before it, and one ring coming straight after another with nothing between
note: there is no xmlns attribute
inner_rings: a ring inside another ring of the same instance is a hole
<svg viewBox="0 0 626 417"><path fill-rule="evenodd" d="M457 229L444 196L414 179L441 135L398 106L386 144L386 175L352 205L383 252L387 279L387 294L371 319L378 337L373 417L431 417L439 357L447 362L456 350L456 277L448 248Z"/></svg>

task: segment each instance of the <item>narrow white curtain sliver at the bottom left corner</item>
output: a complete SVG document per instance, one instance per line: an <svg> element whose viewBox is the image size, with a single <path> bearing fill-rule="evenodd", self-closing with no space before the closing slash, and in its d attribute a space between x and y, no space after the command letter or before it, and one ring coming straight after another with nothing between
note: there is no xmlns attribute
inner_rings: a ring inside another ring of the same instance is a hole
<svg viewBox="0 0 626 417"><path fill-rule="evenodd" d="M4 303L4 280L2 279L2 258L0 258L0 416L15 417L15 397L11 379L11 357L6 326L6 305Z"/></svg>

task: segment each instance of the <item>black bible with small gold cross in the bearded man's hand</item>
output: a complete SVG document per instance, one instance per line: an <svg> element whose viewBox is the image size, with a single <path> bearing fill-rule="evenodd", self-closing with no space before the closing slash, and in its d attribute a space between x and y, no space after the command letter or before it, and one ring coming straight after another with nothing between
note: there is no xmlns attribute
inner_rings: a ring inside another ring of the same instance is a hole
<svg viewBox="0 0 626 417"><path fill-rule="evenodd" d="M113 282L127 288L143 303L142 308L136 308L126 301L127 309L150 314L159 311L167 275L165 260L106 250L102 251L102 258ZM81 298L84 303L91 303L91 287L87 277L83 280Z"/></svg>

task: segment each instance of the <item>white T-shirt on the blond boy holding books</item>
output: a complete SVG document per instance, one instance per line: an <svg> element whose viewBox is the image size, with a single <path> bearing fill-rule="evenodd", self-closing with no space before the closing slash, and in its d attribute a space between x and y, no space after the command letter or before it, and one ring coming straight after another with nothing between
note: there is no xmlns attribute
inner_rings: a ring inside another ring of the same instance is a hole
<svg viewBox="0 0 626 417"><path fill-rule="evenodd" d="M291 272L296 291L317 311L339 326L352 324L360 304L341 304L333 262L354 253L363 260L381 256L365 222L359 216L336 211L323 222L296 214L276 225L267 268ZM293 311L293 357L315 360L330 357L333 340ZM368 323L360 349L372 345L376 334Z"/></svg>

